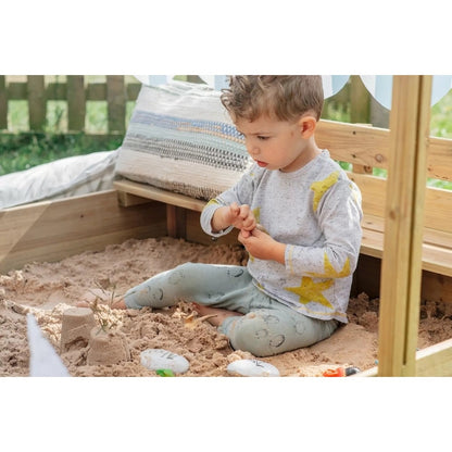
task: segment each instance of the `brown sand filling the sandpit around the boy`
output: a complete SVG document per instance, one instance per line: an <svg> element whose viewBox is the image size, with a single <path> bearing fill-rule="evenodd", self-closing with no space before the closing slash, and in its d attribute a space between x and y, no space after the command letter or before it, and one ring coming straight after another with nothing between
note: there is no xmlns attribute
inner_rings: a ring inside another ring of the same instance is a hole
<svg viewBox="0 0 452 452"><path fill-rule="evenodd" d="M29 263L0 275L0 376L29 375L26 314L33 313L74 377L159 377L140 363L140 352L147 349L165 349L186 357L190 367L181 376L228 377L229 363L255 356L234 351L227 338L208 322L199 322L191 303L184 300L165 310L120 311L92 305L93 318L81 321L88 324L85 329L80 327L86 340L80 339L83 335L67 339L65 327L62 343L63 317L74 312L87 291L98 289L121 296L150 276L184 262L243 265L247 254L239 246L206 247L167 237L131 239L102 252L85 252L56 263ZM325 371L337 367L374 367L378 307L378 300L362 293L350 300L349 324L330 338L260 360L276 366L281 376L290 377L322 377ZM88 318L91 313L78 314ZM452 307L422 303L418 348L451 336ZM112 346L114 340L117 344Z"/></svg>

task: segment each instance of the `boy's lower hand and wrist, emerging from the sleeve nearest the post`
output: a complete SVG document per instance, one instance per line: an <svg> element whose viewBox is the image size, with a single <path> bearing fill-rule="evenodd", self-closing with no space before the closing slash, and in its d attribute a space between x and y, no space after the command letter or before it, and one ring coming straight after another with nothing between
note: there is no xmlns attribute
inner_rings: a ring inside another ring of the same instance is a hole
<svg viewBox="0 0 452 452"><path fill-rule="evenodd" d="M286 244L276 241L258 227L251 233L240 230L238 240L253 258L286 264Z"/></svg>

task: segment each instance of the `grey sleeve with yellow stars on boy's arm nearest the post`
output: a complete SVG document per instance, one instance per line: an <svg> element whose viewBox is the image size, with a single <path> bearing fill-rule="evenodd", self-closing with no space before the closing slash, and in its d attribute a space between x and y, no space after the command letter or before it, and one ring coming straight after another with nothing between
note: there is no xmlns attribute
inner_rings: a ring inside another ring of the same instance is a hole
<svg viewBox="0 0 452 452"><path fill-rule="evenodd" d="M350 180L339 180L314 206L324 240L319 244L286 247L291 274L343 278L353 274L361 248L361 192Z"/></svg>

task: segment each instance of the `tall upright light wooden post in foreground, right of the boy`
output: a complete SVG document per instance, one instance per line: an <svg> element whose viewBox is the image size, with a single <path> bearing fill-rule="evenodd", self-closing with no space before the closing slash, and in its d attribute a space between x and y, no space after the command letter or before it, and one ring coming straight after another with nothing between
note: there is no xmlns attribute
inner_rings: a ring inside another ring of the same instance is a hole
<svg viewBox="0 0 452 452"><path fill-rule="evenodd" d="M431 76L394 76L381 263L379 376L414 376Z"/></svg>

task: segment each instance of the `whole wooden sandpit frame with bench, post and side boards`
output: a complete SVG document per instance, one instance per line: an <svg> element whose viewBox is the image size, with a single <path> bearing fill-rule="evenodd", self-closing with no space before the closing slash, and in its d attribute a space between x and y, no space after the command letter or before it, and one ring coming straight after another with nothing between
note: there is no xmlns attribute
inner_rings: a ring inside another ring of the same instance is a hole
<svg viewBox="0 0 452 452"><path fill-rule="evenodd" d="M452 140L429 136L431 76L394 76L389 129L321 121L317 142L349 162L363 194L363 243L353 291L380 297L378 367L362 376L452 375L452 339L416 352L420 299L452 302ZM388 178L372 175L373 166ZM59 261L129 238L202 233L204 201L118 180L116 190L0 211L0 272ZM387 194L389 193L389 194Z"/></svg>

